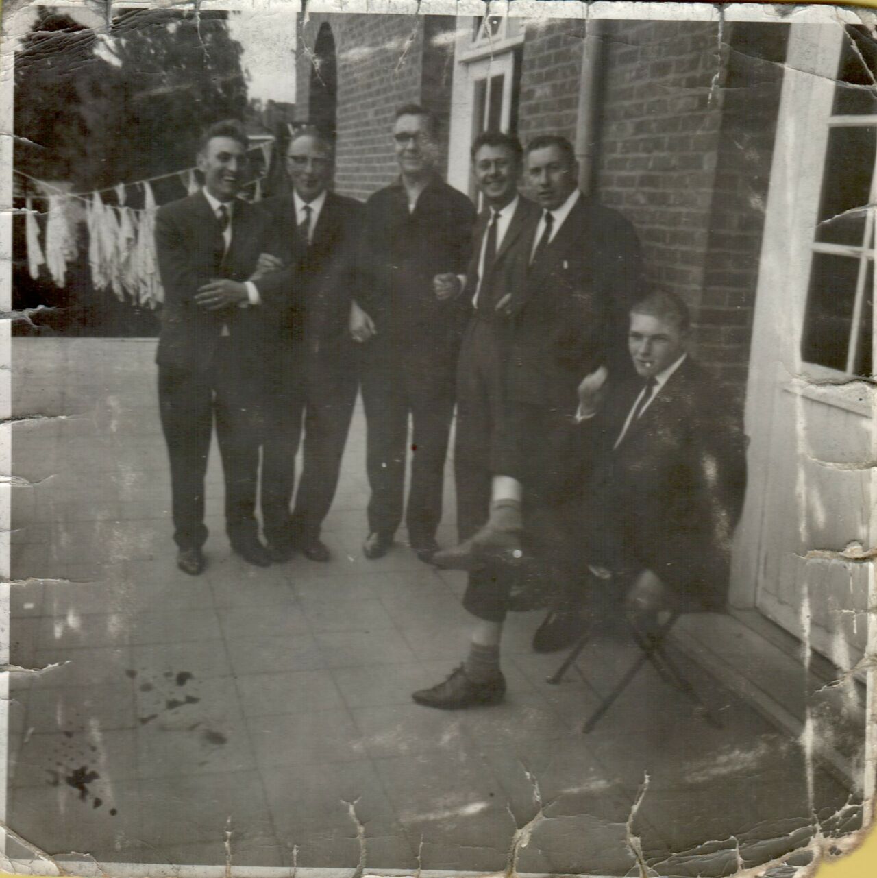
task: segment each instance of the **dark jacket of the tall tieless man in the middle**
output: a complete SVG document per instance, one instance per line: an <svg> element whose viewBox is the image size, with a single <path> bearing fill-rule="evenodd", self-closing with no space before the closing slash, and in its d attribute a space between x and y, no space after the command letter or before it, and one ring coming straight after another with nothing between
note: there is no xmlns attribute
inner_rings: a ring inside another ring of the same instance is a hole
<svg viewBox="0 0 877 878"><path fill-rule="evenodd" d="M414 351L419 362L452 365L459 341L456 300L440 301L436 274L463 274L471 255L475 208L469 198L434 176L408 211L405 187L397 181L375 192L365 205L357 302L375 320L377 335L363 349L398 356Z"/></svg>

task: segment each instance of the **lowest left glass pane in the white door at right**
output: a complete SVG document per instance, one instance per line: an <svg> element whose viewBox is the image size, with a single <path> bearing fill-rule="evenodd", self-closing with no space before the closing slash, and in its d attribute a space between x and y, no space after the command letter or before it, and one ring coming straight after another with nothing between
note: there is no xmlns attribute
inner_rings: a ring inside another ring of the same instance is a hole
<svg viewBox="0 0 877 878"><path fill-rule="evenodd" d="M846 371L859 259L813 254L801 356L807 363Z"/></svg>

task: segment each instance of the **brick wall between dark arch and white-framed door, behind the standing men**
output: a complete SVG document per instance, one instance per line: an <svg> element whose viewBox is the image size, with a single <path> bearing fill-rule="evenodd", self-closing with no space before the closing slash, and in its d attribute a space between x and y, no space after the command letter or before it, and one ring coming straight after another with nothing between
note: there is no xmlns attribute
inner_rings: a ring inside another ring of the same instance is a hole
<svg viewBox="0 0 877 878"><path fill-rule="evenodd" d="M453 44L448 16L312 14L299 33L296 114L306 121L313 45L320 25L332 27L338 60L337 170L335 189L365 199L398 173L393 155L393 115L417 103L446 121L450 112ZM447 126L442 126L442 173Z"/></svg>

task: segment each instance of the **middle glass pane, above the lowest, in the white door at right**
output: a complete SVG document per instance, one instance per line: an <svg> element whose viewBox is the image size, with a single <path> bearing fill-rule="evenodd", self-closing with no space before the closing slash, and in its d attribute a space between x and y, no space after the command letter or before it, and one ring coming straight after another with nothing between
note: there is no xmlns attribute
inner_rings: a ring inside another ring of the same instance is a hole
<svg viewBox="0 0 877 878"><path fill-rule="evenodd" d="M841 127L830 130L816 241L862 246L864 211L833 218L868 203L875 148L877 128Z"/></svg>

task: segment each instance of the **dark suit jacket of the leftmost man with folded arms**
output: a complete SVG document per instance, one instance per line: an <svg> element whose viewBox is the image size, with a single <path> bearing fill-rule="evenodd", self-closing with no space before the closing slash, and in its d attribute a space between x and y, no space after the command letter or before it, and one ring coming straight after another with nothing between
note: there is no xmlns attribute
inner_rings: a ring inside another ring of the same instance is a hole
<svg viewBox="0 0 877 878"><path fill-rule="evenodd" d="M257 369L264 346L264 314L259 308L228 307L205 311L195 304L198 288L228 277L245 281L255 270L266 235L265 218L240 198L232 209L232 242L225 241L219 221L201 192L159 208L155 215L155 249L164 287L162 331L155 362L206 371L210 368L222 327L227 326L232 356Z"/></svg>

